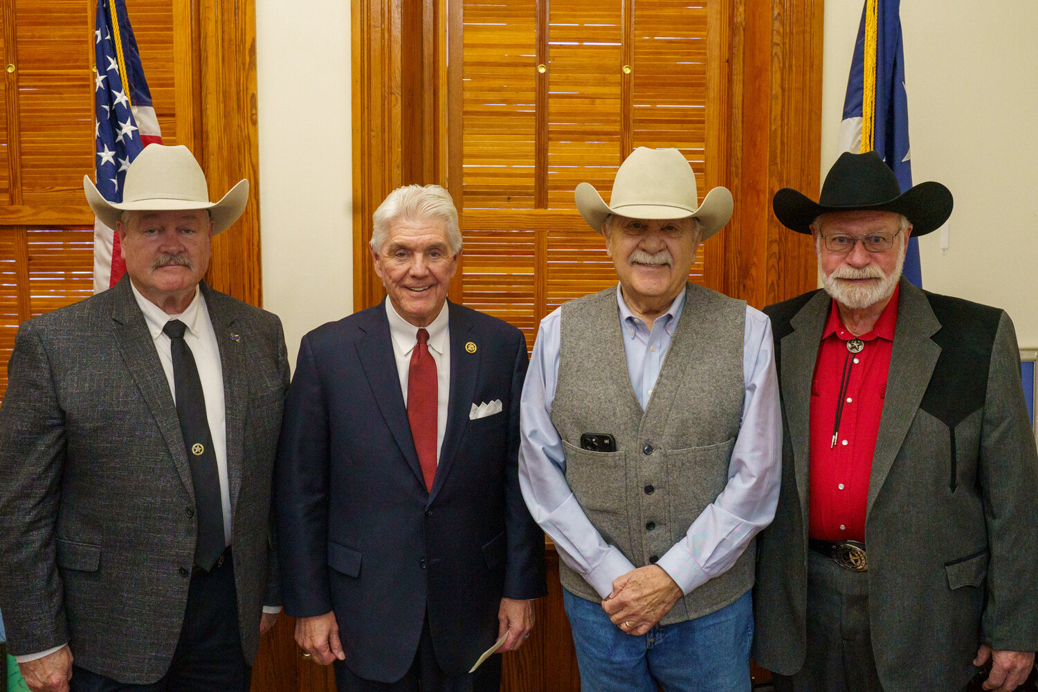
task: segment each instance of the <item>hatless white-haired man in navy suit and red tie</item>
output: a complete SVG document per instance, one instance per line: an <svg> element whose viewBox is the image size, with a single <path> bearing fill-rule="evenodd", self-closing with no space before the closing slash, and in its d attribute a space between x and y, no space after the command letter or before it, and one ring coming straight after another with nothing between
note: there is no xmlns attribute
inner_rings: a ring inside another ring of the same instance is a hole
<svg viewBox="0 0 1038 692"><path fill-rule="evenodd" d="M339 692L497 690L545 594L519 491L526 340L448 303L458 213L439 186L374 215L388 300L303 337L275 470L285 612Z"/></svg>

